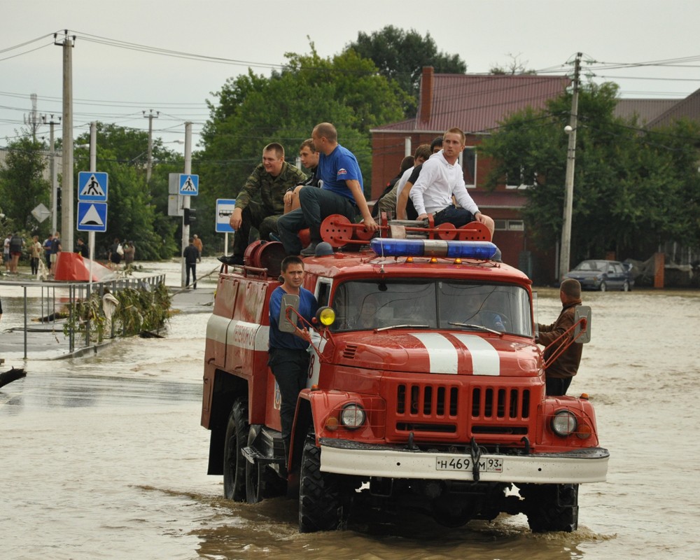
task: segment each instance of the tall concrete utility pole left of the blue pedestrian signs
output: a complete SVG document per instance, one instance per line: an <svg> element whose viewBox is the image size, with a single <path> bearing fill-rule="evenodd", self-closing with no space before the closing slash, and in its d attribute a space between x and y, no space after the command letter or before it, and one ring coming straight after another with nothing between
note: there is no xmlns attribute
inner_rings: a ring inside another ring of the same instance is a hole
<svg viewBox="0 0 700 560"><path fill-rule="evenodd" d="M73 251L73 58L76 36L64 29L63 41L53 44L63 47L63 181L61 182L61 245Z"/></svg>

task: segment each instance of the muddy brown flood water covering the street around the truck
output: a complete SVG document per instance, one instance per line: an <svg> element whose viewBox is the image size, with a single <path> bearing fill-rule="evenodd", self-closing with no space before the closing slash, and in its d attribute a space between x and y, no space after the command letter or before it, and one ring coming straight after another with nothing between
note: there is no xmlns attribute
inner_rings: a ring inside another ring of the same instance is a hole
<svg viewBox="0 0 700 560"><path fill-rule="evenodd" d="M179 283L177 265L159 267ZM200 427L208 314L194 313L174 316L162 339L6 360L3 371L27 377L0 388L0 558L694 560L700 293L584 303L592 340L569 393L589 393L611 458L607 482L581 486L575 533L533 535L524 516L448 529L416 512L362 511L347 531L301 535L293 500L224 500ZM559 307L555 290L539 290L540 322Z"/></svg>

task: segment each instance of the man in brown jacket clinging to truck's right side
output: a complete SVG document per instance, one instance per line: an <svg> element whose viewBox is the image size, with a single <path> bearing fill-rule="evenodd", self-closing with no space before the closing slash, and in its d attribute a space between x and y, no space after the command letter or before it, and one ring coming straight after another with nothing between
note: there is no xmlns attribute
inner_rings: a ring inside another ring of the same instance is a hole
<svg viewBox="0 0 700 560"><path fill-rule="evenodd" d="M545 347L545 361L552 356L561 344L567 344L573 338L573 331L556 344L554 340L559 338L574 323L574 307L581 304L581 284L578 280L567 278L561 283L559 288L559 299L561 299L561 313L556 321L551 325L540 325L538 323L538 344ZM545 370L546 393L551 396L566 395L566 390L571 384L571 379L578 371L581 363L581 351L583 344L573 342L561 353L559 358L549 364Z"/></svg>

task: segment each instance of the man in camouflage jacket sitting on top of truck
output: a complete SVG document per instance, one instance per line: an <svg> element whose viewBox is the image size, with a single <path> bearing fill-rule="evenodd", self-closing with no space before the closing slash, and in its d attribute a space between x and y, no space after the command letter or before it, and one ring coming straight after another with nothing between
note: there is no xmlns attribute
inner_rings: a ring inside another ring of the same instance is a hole
<svg viewBox="0 0 700 560"><path fill-rule="evenodd" d="M260 239L269 240L277 232L277 218L284 213L284 195L306 179L300 169L284 161L284 148L273 142L262 149L262 163L255 167L236 197L229 223L236 230L233 255L219 257L225 265L242 265L251 228L258 228Z"/></svg>

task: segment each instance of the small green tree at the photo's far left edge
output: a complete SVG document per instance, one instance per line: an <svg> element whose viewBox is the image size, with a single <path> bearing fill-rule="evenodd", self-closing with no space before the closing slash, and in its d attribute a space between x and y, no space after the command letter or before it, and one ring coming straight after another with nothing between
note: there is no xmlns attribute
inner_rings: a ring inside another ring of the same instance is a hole
<svg viewBox="0 0 700 560"><path fill-rule="evenodd" d="M13 229L37 230L31 211L40 203L49 206L43 149L41 142L28 136L8 144L5 165L0 168L0 208L12 221Z"/></svg>

